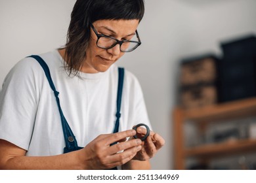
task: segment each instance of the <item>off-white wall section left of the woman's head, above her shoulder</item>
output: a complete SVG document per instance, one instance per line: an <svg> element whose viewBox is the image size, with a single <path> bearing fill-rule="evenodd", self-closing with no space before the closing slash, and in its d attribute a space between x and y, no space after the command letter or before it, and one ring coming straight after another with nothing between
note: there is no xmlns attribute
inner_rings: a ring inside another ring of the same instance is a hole
<svg viewBox="0 0 256 183"><path fill-rule="evenodd" d="M0 83L20 59L62 46L75 0L0 0Z"/></svg>

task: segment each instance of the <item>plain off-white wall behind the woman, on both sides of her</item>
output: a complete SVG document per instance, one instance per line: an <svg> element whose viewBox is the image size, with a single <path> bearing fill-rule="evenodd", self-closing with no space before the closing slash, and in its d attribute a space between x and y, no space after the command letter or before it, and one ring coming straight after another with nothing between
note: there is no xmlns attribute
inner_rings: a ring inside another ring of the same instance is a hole
<svg viewBox="0 0 256 183"><path fill-rule="evenodd" d="M153 169L173 169L171 110L177 98L179 58L217 54L219 41L256 33L255 0L145 0L138 31L142 45L119 65L140 80L154 131L166 141ZM20 59L62 46L75 0L0 0L0 83ZM0 87L1 88L1 87Z"/></svg>

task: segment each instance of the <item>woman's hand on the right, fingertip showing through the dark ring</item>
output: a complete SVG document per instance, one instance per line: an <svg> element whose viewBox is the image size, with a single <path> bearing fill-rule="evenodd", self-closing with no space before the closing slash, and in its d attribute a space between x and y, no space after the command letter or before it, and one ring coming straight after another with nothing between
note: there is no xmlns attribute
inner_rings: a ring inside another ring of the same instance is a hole
<svg viewBox="0 0 256 183"><path fill-rule="evenodd" d="M146 135L146 129L144 127L137 128L137 136ZM150 135L145 141L142 141L142 149L137 152L133 160L146 161L156 155L158 150L165 144L165 140L158 133L150 131Z"/></svg>

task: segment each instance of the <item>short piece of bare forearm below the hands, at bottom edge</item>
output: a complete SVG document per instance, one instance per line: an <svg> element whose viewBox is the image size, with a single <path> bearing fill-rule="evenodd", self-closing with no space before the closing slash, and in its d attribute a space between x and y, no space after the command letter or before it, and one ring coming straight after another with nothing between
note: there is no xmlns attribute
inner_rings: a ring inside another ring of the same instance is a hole
<svg viewBox="0 0 256 183"><path fill-rule="evenodd" d="M123 170L149 170L151 169L150 161L131 160L122 165Z"/></svg>

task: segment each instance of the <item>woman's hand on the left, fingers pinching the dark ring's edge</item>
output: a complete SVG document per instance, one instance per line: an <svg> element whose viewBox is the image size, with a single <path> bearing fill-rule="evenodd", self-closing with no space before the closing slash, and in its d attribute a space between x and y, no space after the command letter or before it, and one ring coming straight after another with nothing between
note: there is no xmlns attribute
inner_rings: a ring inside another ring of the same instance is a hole
<svg viewBox="0 0 256 183"><path fill-rule="evenodd" d="M79 150L79 161L84 169L112 169L133 159L142 148L140 139L126 141L136 134L134 129L99 135L85 148ZM119 142L114 145L114 142Z"/></svg>

